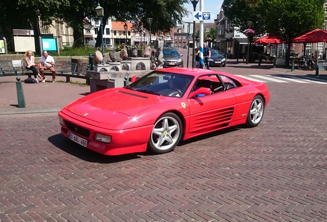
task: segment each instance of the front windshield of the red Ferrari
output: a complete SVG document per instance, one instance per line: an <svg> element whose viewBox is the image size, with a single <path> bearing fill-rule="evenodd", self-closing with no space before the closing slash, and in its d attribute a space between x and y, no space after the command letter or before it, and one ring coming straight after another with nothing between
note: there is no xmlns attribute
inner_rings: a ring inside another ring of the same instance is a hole
<svg viewBox="0 0 327 222"><path fill-rule="evenodd" d="M181 98L193 79L193 76L156 70L125 88L147 94Z"/></svg>

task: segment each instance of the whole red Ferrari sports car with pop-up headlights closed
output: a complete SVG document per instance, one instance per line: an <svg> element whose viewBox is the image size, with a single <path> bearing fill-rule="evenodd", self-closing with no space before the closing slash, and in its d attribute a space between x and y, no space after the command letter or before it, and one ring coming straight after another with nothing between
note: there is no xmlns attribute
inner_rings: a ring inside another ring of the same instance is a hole
<svg viewBox="0 0 327 222"><path fill-rule="evenodd" d="M162 154L180 140L257 126L268 101L264 83L213 70L166 68L72 102L59 120L64 136L101 154Z"/></svg>

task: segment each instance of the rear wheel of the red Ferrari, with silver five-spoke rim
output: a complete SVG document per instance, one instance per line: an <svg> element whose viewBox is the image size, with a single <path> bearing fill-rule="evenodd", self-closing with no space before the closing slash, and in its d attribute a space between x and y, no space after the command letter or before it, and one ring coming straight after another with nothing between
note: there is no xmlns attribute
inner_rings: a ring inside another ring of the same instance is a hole
<svg viewBox="0 0 327 222"><path fill-rule="evenodd" d="M256 127L262 120L264 113L264 102L261 96L253 98L249 113L246 119L246 125L248 127Z"/></svg>

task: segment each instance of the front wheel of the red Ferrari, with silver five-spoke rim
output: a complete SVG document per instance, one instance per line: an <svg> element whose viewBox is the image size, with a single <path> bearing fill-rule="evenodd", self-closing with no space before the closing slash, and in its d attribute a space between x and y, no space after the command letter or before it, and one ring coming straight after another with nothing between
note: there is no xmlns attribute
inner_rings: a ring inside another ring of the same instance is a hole
<svg viewBox="0 0 327 222"><path fill-rule="evenodd" d="M182 132L183 124L176 114L163 114L154 123L148 147L156 154L171 152L179 143Z"/></svg>

